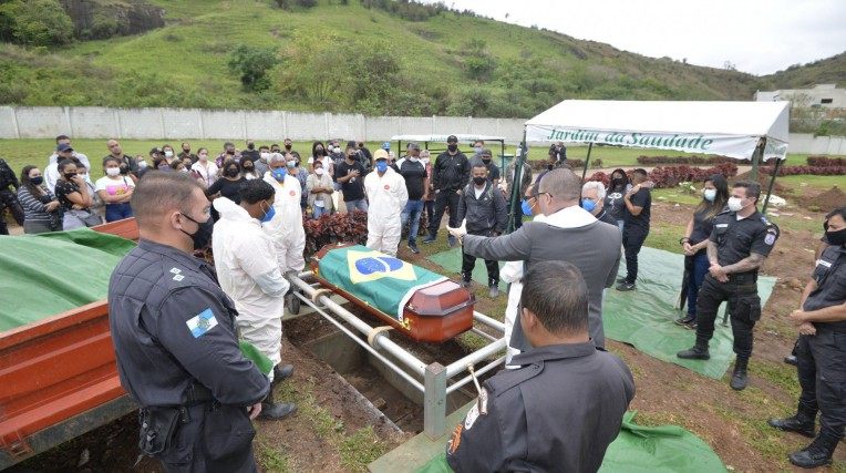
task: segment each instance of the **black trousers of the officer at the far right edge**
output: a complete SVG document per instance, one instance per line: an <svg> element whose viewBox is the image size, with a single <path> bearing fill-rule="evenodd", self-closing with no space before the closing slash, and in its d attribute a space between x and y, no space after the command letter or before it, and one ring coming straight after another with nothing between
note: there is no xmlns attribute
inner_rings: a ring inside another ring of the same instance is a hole
<svg viewBox="0 0 846 473"><path fill-rule="evenodd" d="M814 418L819 411L819 436L833 444L846 428L846 330L815 323L816 335L799 336L796 345L799 410Z"/></svg>

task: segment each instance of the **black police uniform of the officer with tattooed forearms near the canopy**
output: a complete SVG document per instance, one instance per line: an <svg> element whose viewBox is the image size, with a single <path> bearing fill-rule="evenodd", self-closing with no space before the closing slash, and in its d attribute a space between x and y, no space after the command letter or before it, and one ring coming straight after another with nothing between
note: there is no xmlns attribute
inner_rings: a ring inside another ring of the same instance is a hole
<svg viewBox="0 0 846 473"><path fill-rule="evenodd" d="M710 240L716 244L720 266L733 265L753 253L766 257L776 239L778 227L757 210L740 220L734 212L725 210L719 214L714 217L710 237ZM711 274L705 276L697 299L698 347L708 347L714 335L716 311L724 300L729 301L734 352L737 360L745 363L752 356L752 329L761 318L757 270L731 274L728 282L718 281Z"/></svg>

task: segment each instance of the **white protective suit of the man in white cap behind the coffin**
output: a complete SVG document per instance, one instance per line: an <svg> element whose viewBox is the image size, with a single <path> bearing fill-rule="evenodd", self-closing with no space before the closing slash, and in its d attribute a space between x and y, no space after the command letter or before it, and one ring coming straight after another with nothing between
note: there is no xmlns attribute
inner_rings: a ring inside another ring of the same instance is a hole
<svg viewBox="0 0 846 473"><path fill-rule="evenodd" d="M364 177L368 196L368 248L396 256L402 237L400 214L409 202L405 179L391 167L380 176L373 169Z"/></svg>

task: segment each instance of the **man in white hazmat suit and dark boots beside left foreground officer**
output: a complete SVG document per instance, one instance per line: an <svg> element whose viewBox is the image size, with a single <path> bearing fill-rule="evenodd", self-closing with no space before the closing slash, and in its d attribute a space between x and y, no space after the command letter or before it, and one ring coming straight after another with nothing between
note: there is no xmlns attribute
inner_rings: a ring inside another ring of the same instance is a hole
<svg viewBox="0 0 846 473"><path fill-rule="evenodd" d="M212 234L215 270L220 288L235 302L236 323L241 338L274 363L268 378L274 384L291 376L293 367L282 366L282 310L290 284L282 277L274 243L261 228L274 217L272 186L259 179L239 191L240 205L228 198L213 203L220 218ZM275 402L274 390L261 402L266 419L282 419L297 408Z"/></svg>

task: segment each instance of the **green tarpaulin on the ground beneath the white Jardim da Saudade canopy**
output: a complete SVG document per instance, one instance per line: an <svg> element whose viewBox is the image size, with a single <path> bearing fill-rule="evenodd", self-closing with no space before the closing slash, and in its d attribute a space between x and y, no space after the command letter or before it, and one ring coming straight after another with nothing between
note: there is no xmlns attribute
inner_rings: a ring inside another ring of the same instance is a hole
<svg viewBox="0 0 846 473"><path fill-rule="evenodd" d="M734 359L731 327L723 326L723 308L719 311L714 338L711 340L711 359L681 360L680 350L693 346L695 331L673 323L683 312L675 309L684 273L684 257L670 251L643 247L638 256L637 290L621 292L613 288L606 291L602 302L605 336L612 340L631 343L638 350L688 368L709 378L720 379ZM626 275L625 261L620 276ZM761 276L757 280L761 306L773 292L775 278Z"/></svg>

